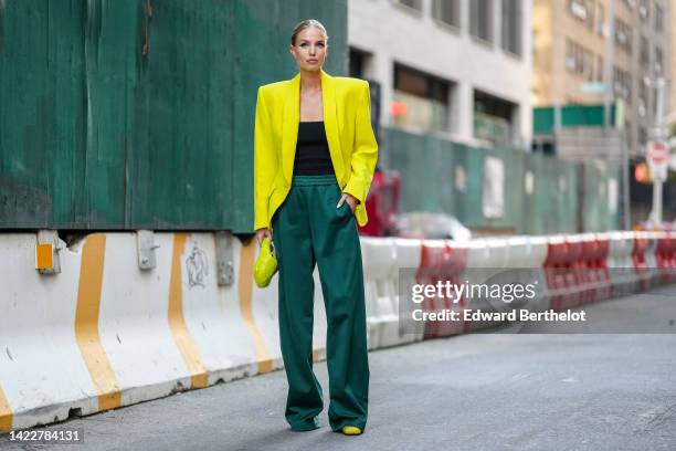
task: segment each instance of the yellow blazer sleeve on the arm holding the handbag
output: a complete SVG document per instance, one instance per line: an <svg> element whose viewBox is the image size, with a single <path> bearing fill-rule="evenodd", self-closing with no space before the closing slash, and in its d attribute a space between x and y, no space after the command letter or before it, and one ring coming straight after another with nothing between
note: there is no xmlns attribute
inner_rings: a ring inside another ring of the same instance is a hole
<svg viewBox="0 0 676 451"><path fill-rule="evenodd" d="M277 155L273 146L270 112L258 88L254 128L254 230L270 227L268 195L277 168Z"/></svg>

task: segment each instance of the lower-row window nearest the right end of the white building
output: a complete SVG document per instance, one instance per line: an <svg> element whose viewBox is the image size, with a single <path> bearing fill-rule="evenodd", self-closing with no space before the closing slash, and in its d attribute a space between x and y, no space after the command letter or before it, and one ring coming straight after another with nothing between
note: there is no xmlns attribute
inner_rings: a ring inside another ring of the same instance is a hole
<svg viewBox="0 0 676 451"><path fill-rule="evenodd" d="M500 97L474 92L474 136L496 145L513 141L513 127L517 105Z"/></svg>

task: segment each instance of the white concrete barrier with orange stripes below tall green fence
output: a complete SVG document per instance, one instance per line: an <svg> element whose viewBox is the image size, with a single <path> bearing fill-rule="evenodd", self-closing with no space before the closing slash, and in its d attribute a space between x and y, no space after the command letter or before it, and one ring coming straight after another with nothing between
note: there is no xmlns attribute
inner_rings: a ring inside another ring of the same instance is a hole
<svg viewBox="0 0 676 451"><path fill-rule="evenodd" d="M41 275L35 235L0 235L3 430L281 367L276 304L253 292L252 243L233 240L236 281L218 286L213 234L155 242L151 271L138 269L136 234L95 233L61 251L61 273Z"/></svg>

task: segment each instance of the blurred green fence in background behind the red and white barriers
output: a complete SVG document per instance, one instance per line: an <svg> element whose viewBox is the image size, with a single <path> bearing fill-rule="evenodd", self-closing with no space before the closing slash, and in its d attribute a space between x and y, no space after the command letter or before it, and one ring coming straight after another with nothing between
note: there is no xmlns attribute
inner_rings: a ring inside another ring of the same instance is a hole
<svg viewBox="0 0 676 451"><path fill-rule="evenodd" d="M382 162L401 175L402 212L445 212L473 229L516 233L620 228L619 197L611 195L611 187L619 193L617 166L562 161L510 148L472 148L397 128L383 132ZM487 157L504 167L504 211L489 218L483 208Z"/></svg>

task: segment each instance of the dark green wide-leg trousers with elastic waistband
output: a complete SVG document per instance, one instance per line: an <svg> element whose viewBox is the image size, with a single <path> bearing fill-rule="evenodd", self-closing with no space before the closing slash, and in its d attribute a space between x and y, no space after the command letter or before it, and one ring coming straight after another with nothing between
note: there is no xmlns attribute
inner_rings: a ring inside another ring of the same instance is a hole
<svg viewBox="0 0 676 451"><path fill-rule="evenodd" d="M279 269L279 339L288 381L286 420L293 430L318 428L324 407L313 371L313 272L319 268L327 317L329 424L366 427L369 395L366 305L357 222L334 175L294 176L275 212Z"/></svg>

